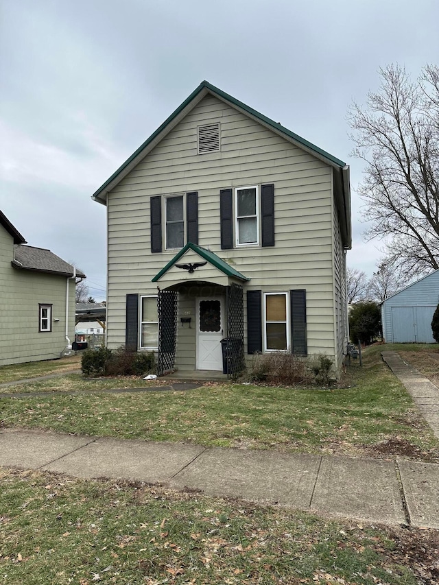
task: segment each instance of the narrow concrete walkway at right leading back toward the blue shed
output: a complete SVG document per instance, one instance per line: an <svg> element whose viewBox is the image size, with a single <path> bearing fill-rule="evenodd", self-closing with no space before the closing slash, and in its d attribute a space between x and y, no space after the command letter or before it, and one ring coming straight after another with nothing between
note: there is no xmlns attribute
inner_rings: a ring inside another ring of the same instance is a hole
<svg viewBox="0 0 439 585"><path fill-rule="evenodd" d="M420 413L439 439L439 388L412 368L396 351L383 351L381 355L390 370L412 394Z"/></svg>

